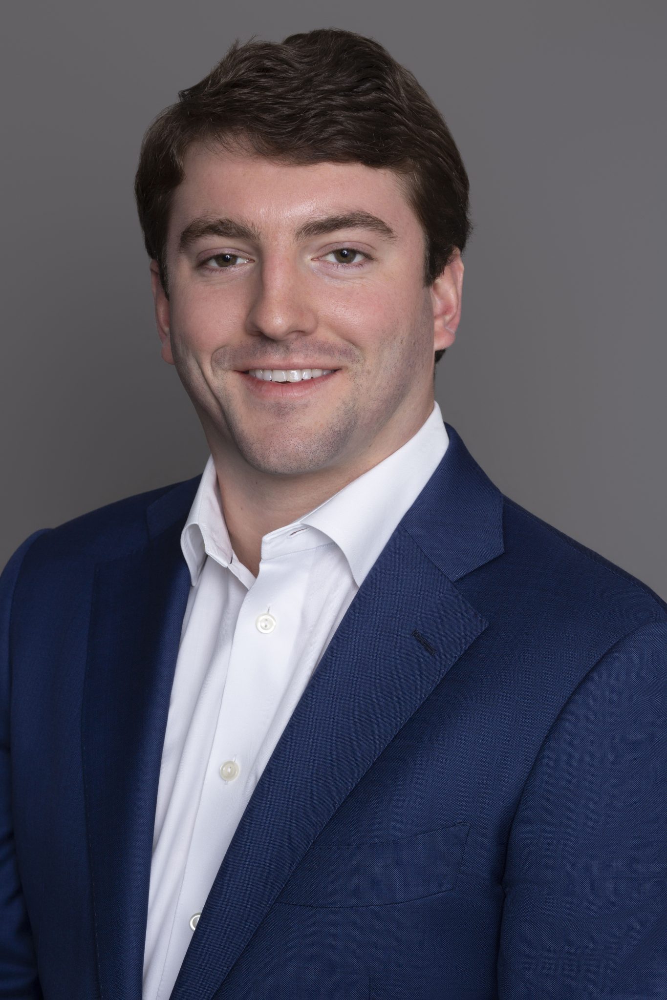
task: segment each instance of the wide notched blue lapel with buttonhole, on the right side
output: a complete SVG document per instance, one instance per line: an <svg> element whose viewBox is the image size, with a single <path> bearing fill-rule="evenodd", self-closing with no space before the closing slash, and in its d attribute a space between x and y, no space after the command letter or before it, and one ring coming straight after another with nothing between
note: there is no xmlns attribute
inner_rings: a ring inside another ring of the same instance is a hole
<svg viewBox="0 0 667 1000"><path fill-rule="evenodd" d="M486 628L453 580L500 555L502 497L450 445L333 636L257 784L172 1000L210 1000L314 839Z"/></svg>

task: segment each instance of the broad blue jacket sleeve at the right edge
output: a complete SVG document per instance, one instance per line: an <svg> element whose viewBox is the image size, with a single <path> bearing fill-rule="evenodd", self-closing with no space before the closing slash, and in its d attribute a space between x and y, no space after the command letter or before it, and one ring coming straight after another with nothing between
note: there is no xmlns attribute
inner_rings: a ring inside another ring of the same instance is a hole
<svg viewBox="0 0 667 1000"><path fill-rule="evenodd" d="M510 832L500 1000L667 997L667 621L586 674Z"/></svg>

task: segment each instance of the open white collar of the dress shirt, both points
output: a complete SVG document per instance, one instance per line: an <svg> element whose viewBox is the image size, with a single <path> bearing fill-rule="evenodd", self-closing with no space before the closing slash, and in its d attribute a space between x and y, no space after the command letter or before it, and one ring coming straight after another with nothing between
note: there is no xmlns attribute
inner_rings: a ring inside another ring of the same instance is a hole
<svg viewBox="0 0 667 1000"><path fill-rule="evenodd" d="M265 535L262 559L333 542L345 555L360 587L399 521L435 472L448 444L442 413L434 402L430 416L404 445L308 514ZM247 586L252 582L245 567L234 565L236 557L222 512L212 455L181 533L181 548L193 586L207 555L236 571Z"/></svg>

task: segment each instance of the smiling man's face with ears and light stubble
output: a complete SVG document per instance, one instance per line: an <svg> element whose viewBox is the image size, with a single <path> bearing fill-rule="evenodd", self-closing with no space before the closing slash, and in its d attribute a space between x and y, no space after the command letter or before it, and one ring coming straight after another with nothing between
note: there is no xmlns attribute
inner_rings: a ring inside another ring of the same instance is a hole
<svg viewBox="0 0 667 1000"><path fill-rule="evenodd" d="M454 340L463 264L425 287L424 235L395 174L190 147L153 271L162 356L214 459L260 473L353 475L433 408L433 354ZM299 382L249 371L335 369Z"/></svg>

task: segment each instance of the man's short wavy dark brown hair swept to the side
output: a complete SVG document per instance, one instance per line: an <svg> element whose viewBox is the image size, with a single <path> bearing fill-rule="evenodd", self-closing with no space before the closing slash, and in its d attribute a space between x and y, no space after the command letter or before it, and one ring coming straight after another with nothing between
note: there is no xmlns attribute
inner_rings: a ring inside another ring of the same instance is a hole
<svg viewBox="0 0 667 1000"><path fill-rule="evenodd" d="M234 42L200 83L150 125L134 190L149 257L168 294L172 192L193 142L247 146L295 164L394 170L425 233L433 283L471 231L468 176L442 115L414 75L371 38L319 28L283 42ZM439 361L444 351L435 352Z"/></svg>

